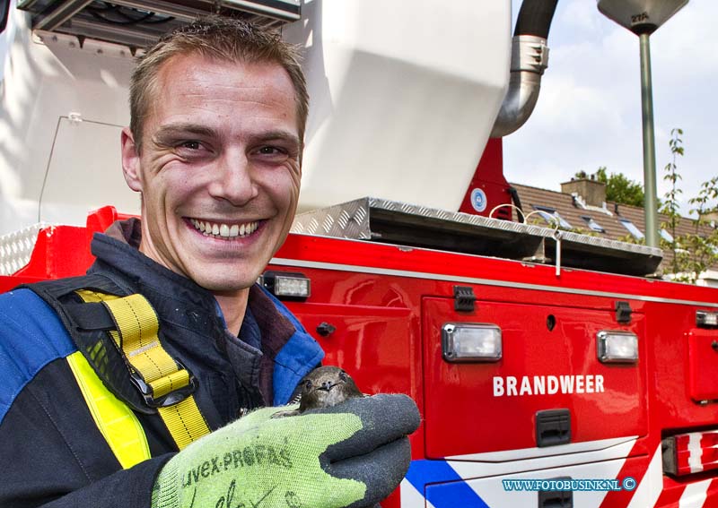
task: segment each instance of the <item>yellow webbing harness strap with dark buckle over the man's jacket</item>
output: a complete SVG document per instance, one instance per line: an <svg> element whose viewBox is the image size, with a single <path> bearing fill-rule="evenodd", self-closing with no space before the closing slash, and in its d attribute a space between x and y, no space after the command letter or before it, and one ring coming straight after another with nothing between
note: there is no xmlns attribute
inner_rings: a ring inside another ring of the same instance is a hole
<svg viewBox="0 0 718 508"><path fill-rule="evenodd" d="M131 368L152 390L153 398L188 385L189 373L162 348L158 336L159 321L153 307L139 294L115 297L83 289L77 294L85 302L102 302L112 314L118 331L110 331ZM209 434L206 420L192 395L158 412L178 448Z"/></svg>

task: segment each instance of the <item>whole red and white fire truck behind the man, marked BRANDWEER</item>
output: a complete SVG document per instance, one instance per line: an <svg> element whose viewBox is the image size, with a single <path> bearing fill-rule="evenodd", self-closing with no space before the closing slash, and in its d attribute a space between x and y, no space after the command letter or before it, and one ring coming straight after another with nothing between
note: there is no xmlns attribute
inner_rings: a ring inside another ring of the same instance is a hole
<svg viewBox="0 0 718 508"><path fill-rule="evenodd" d="M326 364L416 400L382 505L718 504L718 292L652 277L658 248L511 220L501 137L537 100L555 7L525 0L512 38L498 0L12 0L0 290L82 274L92 234L137 213L118 160L137 48L257 18L302 44L312 100L301 213L261 283Z"/></svg>

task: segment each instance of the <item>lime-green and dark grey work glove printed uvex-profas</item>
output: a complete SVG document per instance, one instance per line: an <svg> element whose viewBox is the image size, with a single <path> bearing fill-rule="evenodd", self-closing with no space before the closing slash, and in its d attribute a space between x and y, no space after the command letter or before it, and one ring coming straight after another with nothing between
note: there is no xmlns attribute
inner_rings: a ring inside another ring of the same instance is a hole
<svg viewBox="0 0 718 508"><path fill-rule="evenodd" d="M407 473L419 413L406 395L271 418L279 410L258 409L177 453L155 480L153 508L371 506Z"/></svg>

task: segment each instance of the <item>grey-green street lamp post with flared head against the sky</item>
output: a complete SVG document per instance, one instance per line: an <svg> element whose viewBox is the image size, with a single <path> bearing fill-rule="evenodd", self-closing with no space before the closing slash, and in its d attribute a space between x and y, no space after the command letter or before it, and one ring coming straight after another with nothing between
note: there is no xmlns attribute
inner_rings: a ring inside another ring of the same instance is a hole
<svg viewBox="0 0 718 508"><path fill-rule="evenodd" d="M638 36L641 47L641 105L644 125L645 243L657 247L656 148L653 131L651 34L688 0L598 0L599 11Z"/></svg>

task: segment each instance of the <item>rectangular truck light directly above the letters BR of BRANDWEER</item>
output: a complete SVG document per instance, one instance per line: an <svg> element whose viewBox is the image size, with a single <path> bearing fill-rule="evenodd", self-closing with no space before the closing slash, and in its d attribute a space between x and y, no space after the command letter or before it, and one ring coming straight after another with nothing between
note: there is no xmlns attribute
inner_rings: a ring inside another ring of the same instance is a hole
<svg viewBox="0 0 718 508"><path fill-rule="evenodd" d="M501 328L487 323L445 323L442 354L447 362L496 362L502 357Z"/></svg>

